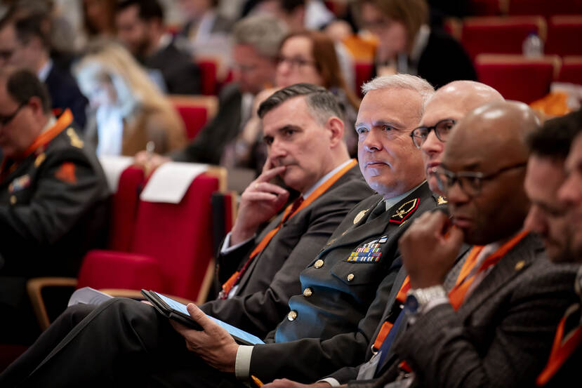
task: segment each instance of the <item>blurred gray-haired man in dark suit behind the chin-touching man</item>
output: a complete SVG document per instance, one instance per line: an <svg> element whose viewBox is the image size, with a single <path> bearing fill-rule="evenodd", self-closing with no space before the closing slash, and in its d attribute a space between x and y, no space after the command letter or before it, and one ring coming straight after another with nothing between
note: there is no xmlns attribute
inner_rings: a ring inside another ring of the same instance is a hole
<svg viewBox="0 0 582 388"><path fill-rule="evenodd" d="M272 85L275 79L279 44L286 34L282 23L265 15L246 18L237 23L233 32L232 57L235 83L226 86L218 96L218 112L184 149L168 156L135 156L139 164L156 168L166 161L220 164L227 145L237 140L244 124L251 118L254 96ZM241 145L239 145L241 146ZM258 144L244 144L253 149ZM260 170L263 162L251 158L245 166Z"/></svg>

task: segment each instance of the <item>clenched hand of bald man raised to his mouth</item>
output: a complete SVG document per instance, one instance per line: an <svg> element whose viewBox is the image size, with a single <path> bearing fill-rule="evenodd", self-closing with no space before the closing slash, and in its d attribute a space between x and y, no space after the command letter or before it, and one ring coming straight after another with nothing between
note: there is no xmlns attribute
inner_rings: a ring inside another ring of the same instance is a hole
<svg viewBox="0 0 582 388"><path fill-rule="evenodd" d="M398 242L411 288L427 288L444 282L453 267L463 232L440 211L423 213Z"/></svg>

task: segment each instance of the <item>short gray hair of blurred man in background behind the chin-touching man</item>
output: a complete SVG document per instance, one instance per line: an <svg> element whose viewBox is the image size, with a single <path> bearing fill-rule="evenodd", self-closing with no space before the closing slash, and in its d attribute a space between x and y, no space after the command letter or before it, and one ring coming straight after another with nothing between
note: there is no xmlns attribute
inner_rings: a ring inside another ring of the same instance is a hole
<svg viewBox="0 0 582 388"><path fill-rule="evenodd" d="M232 43L248 44L267 58L275 58L287 34L284 23L270 15L253 15L234 25Z"/></svg>

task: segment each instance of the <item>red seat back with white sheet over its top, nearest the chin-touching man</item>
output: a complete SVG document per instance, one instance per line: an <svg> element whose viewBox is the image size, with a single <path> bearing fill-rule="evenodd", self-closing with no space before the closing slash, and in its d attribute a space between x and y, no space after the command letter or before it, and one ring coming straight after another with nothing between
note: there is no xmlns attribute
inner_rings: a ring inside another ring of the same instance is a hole
<svg viewBox="0 0 582 388"><path fill-rule="evenodd" d="M157 260L161 292L196 300L211 257L211 194L218 178L202 174L180 203L140 201L133 253Z"/></svg>

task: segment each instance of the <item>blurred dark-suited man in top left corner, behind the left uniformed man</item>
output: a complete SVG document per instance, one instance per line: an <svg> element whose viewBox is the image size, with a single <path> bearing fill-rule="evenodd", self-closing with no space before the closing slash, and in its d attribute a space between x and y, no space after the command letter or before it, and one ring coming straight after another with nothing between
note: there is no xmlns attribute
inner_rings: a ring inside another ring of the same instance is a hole
<svg viewBox="0 0 582 388"><path fill-rule="evenodd" d="M37 74L48 88L53 109L71 109L74 121L82 129L88 101L68 70L53 64L45 24L44 15L15 20L13 13L8 13L0 20L0 67L24 67Z"/></svg>

